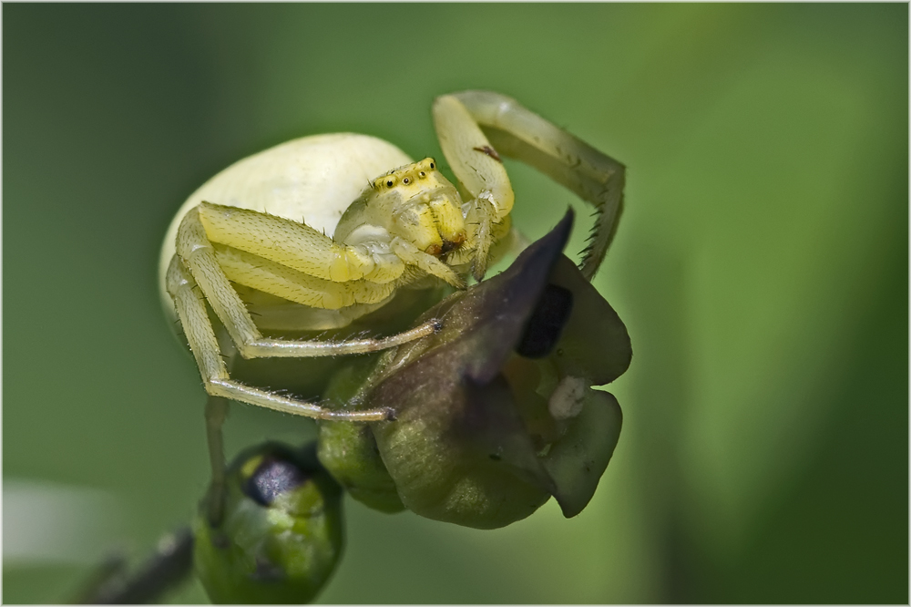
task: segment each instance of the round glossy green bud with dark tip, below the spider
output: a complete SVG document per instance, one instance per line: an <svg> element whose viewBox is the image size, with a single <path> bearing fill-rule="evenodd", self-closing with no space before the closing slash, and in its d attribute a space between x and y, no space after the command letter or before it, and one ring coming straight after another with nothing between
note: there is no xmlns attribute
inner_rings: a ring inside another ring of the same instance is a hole
<svg viewBox="0 0 911 607"><path fill-rule="evenodd" d="M343 548L342 489L312 446L244 451L228 469L224 499L217 526L206 500L193 525L194 566L210 600L311 602Z"/></svg>

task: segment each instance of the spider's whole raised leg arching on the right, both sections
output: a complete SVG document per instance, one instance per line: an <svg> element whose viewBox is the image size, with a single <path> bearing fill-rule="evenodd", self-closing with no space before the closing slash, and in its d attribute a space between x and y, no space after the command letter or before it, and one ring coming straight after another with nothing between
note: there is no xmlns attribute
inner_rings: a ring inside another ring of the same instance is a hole
<svg viewBox="0 0 911 607"><path fill-rule="evenodd" d="M595 226L579 265L591 280L617 226L624 166L498 93L470 90L437 98L434 121L446 159L473 196L483 198L488 191L496 204L511 208L512 190L498 163L503 154L535 167L595 207ZM501 171L494 170L494 165ZM481 215L483 220L485 213Z"/></svg>

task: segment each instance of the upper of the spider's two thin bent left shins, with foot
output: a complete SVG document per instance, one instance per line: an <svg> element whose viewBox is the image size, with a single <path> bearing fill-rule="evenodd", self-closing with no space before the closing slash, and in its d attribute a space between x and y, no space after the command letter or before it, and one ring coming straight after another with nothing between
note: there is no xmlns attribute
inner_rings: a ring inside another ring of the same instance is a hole
<svg viewBox="0 0 911 607"><path fill-rule="evenodd" d="M210 205L214 206L214 205ZM233 210L236 211L236 210ZM250 211L255 215L262 215L271 219L281 219ZM287 223L294 223L287 221ZM297 224L300 225L300 224ZM313 231L317 234L319 232ZM275 237L274 232L271 233ZM322 236L322 234L320 234ZM325 237L323 237L325 238ZM329 239L331 242L331 239ZM264 255L263 255L264 256ZM241 297L230 285L228 277L219 265L215 249L209 241L200 214L194 211L187 213L177 235L177 257L186 266L188 275L196 284L199 284L202 293L209 300L215 315L224 324L230 334L231 341L237 346L238 352L244 358L258 358L269 356L307 357L307 356L334 356L364 354L377 352L396 345L402 345L419 337L435 333L439 328L436 320L427 321L413 329L400 334L390 335L380 339L352 339L340 342L324 342L319 340L285 340L263 337L253 320ZM401 262L401 260L400 260ZM171 263L173 266L174 263ZM404 269L404 264L403 264ZM323 267L323 273L327 272ZM169 277L171 270L169 268ZM169 287L170 289L170 287ZM170 291L169 291L170 293ZM182 321L182 319L181 319ZM186 329L186 324L184 324ZM200 344L203 342L200 342ZM202 369L215 369L214 366L203 366ZM225 395L222 395L225 396ZM230 396L229 396L230 397ZM251 402L240 398L245 402ZM268 406L268 405L265 405ZM306 414L302 414L306 415Z"/></svg>

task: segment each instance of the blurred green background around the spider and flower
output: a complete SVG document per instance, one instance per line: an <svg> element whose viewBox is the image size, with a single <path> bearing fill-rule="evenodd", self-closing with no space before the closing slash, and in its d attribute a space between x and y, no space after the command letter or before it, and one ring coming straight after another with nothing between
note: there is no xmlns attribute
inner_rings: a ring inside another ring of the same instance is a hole
<svg viewBox="0 0 911 607"><path fill-rule="evenodd" d="M159 309L171 214L307 134L440 155L435 95L490 88L629 167L596 279L635 352L619 447L573 520L549 503L476 531L349 500L321 602L906 603L907 57L906 4L6 4L7 498L105 491L95 553L189 520L204 398ZM571 196L508 169L540 236ZM310 432L235 406L229 448ZM4 602L88 571L10 550Z"/></svg>

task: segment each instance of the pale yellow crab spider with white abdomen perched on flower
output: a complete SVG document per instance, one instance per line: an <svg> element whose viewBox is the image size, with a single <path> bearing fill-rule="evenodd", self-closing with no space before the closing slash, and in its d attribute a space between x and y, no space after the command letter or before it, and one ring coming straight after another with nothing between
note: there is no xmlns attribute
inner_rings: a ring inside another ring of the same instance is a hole
<svg viewBox="0 0 911 607"><path fill-rule="evenodd" d="M618 161L492 92L436 98L433 116L455 185L435 159L414 162L363 135L320 135L242 159L180 208L159 277L211 396L210 426L220 427L212 403L224 399L322 419L388 418L386 410L330 411L247 386L229 367L238 356L368 353L433 333L438 321L375 339L281 337L369 319L403 287L462 288L469 273L481 280L488 262L515 242L514 194L500 155L525 161L594 206L580 268L589 279L598 270L622 203Z"/></svg>

